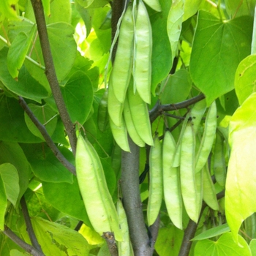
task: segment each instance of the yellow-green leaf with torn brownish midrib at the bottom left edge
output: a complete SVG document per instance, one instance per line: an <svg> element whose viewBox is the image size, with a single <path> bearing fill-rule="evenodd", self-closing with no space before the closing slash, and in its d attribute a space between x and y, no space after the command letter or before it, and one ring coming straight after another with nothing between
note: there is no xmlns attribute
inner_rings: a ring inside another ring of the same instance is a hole
<svg viewBox="0 0 256 256"><path fill-rule="evenodd" d="M89 246L83 236L75 230L40 217L31 219L34 233L45 255L88 255Z"/></svg>

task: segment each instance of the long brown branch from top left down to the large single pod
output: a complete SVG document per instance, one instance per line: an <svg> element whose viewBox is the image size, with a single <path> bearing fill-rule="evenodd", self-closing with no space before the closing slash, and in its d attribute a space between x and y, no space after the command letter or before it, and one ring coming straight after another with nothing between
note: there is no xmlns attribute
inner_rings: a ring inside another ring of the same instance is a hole
<svg viewBox="0 0 256 256"><path fill-rule="evenodd" d="M42 7L41 0L31 0L31 4L34 10L34 16L37 21L37 30L39 34L39 40L42 48L42 56L45 61L45 75L50 84L50 89L53 92L53 97L56 102L56 106L59 110L59 115L63 121L64 127L69 138L69 143L72 148L72 152L75 155L76 142L77 138L75 135L75 127L70 120L69 113L67 113L67 108L64 103L64 99L61 94L61 89L59 87L59 82L56 76L56 70L53 64L53 56L50 51L50 42L48 39L46 23L45 23L45 14Z"/></svg>

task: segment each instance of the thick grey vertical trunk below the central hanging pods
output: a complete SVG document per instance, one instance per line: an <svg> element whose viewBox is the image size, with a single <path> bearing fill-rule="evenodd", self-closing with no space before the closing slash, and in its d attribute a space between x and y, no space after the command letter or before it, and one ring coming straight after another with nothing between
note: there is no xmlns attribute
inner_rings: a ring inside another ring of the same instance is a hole
<svg viewBox="0 0 256 256"><path fill-rule="evenodd" d="M149 246L148 233L144 222L138 182L140 149L131 138L128 138L128 140L131 153L122 151L121 159L121 191L124 210L127 214L129 235L135 255L150 255L151 247Z"/></svg>

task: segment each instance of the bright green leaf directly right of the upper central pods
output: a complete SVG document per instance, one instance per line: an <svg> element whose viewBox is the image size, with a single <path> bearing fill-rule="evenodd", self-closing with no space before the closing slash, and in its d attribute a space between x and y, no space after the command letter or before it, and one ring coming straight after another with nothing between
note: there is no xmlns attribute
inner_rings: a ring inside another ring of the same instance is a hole
<svg viewBox="0 0 256 256"><path fill-rule="evenodd" d="M160 83L170 72L172 67L172 50L167 34L167 18L170 11L171 1L159 0L162 12L150 15L152 26L153 48L152 48L152 81L151 92L155 96L158 83Z"/></svg>

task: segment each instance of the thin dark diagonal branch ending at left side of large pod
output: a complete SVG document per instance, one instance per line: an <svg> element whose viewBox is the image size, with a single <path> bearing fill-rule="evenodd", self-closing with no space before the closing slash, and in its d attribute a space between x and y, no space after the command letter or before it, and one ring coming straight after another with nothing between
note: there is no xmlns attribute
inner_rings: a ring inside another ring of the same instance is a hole
<svg viewBox="0 0 256 256"><path fill-rule="evenodd" d="M59 151L59 148L53 143L53 140L50 138L50 135L48 134L45 127L38 121L36 116L34 116L34 113L31 111L29 106L26 104L26 101L23 99L23 97L19 97L18 102L20 103L20 106L25 110L31 121L34 123L34 125L39 129L39 132L41 132L42 137L45 139L45 142L48 144L50 149L53 151L53 154L55 154L56 158L59 159L59 162L61 162L64 167L67 168L71 173L75 175L75 166L72 165L63 154L61 154L61 151Z"/></svg>

